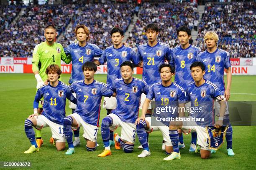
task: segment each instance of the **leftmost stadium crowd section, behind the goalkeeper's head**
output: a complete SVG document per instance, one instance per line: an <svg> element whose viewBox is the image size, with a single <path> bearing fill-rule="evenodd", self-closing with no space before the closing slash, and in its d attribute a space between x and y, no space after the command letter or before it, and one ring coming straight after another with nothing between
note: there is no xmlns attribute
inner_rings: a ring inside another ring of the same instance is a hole
<svg viewBox="0 0 256 170"><path fill-rule="evenodd" d="M61 34L74 16L76 8L74 5L26 7L17 21L1 33L0 56L32 57L34 47L44 41L46 25L55 25Z"/></svg>

